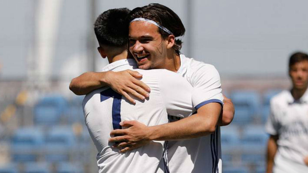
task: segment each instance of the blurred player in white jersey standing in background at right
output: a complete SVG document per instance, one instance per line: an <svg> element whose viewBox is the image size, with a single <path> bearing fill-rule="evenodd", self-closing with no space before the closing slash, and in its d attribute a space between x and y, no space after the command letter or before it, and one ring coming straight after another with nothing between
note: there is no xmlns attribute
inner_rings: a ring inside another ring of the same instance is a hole
<svg viewBox="0 0 308 173"><path fill-rule="evenodd" d="M308 172L308 55L297 52L289 60L291 90L270 101L265 129L267 173Z"/></svg>

